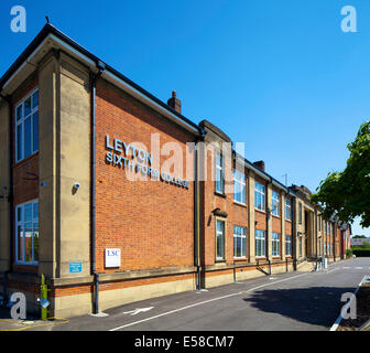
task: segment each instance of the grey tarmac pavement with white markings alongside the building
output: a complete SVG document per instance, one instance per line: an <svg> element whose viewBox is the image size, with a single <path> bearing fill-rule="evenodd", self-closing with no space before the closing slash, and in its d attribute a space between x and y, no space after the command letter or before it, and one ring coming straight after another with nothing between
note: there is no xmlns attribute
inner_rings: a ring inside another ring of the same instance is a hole
<svg viewBox="0 0 370 353"><path fill-rule="evenodd" d="M0 330L28 331L328 331L340 313L341 295L370 274L370 258L330 264L317 272L287 272L188 291L109 309L101 315ZM0 317L1 315L0 312ZM9 319L8 319L9 320Z"/></svg>

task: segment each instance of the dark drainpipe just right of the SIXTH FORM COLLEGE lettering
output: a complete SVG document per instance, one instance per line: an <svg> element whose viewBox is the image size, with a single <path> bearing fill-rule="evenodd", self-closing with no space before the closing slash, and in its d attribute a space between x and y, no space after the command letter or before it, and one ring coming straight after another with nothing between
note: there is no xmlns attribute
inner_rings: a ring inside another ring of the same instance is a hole
<svg viewBox="0 0 370 353"><path fill-rule="evenodd" d="M202 130L200 137L195 141L195 171L194 171L194 263L197 267L197 290L202 289L202 278L200 278L200 188L199 188L199 149L198 142L204 141L205 131Z"/></svg>

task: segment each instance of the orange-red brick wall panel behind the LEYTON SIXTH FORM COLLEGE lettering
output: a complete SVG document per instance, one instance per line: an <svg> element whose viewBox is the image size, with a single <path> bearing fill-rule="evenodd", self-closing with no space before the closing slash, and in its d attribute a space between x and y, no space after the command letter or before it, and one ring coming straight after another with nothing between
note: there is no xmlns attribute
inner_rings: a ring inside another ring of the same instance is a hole
<svg viewBox="0 0 370 353"><path fill-rule="evenodd" d="M193 182L184 189L163 181L130 181L124 169L107 164L105 157L107 133L127 143L142 142L149 152L151 133L159 133L161 148L166 142L182 146L185 173L185 143L194 137L102 81L97 86L96 128L97 271L193 266ZM161 164L167 158L161 157ZM121 249L120 268L105 270L106 248Z"/></svg>

